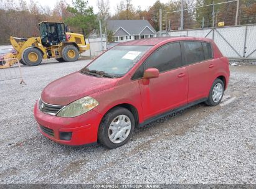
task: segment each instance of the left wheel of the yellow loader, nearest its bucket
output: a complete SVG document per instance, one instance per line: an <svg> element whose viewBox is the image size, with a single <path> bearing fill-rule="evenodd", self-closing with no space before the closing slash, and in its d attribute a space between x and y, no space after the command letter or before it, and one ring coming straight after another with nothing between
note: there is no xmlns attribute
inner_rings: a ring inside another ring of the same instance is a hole
<svg viewBox="0 0 256 189"><path fill-rule="evenodd" d="M22 52L21 58L26 65L37 66L42 62L42 53L37 48L29 47Z"/></svg>

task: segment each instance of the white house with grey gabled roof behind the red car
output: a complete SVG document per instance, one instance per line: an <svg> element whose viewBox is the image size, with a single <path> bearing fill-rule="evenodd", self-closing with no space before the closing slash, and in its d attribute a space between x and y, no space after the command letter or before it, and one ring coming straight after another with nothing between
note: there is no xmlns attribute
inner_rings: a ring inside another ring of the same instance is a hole
<svg viewBox="0 0 256 189"><path fill-rule="evenodd" d="M156 37L156 30L146 20L109 20L107 25L115 42Z"/></svg>

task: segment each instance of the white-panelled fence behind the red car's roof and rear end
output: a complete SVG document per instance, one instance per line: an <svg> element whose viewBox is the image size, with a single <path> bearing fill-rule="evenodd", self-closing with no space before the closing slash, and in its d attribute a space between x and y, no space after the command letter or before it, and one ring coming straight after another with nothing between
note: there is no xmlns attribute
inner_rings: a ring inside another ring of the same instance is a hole
<svg viewBox="0 0 256 189"><path fill-rule="evenodd" d="M207 37L217 44L225 57L256 60L256 24L215 27L213 29L177 30L168 36ZM162 33L162 36L166 34Z"/></svg>

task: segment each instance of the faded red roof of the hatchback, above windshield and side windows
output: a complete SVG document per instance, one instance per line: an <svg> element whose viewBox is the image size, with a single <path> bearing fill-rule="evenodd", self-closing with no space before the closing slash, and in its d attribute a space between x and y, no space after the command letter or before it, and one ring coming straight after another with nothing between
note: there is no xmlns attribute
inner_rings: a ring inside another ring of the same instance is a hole
<svg viewBox="0 0 256 189"><path fill-rule="evenodd" d="M157 45L161 42L173 42L177 40L201 40L206 42L211 42L211 39L203 38L203 37L152 37L148 39L139 39L139 40L131 40L128 42L123 42L118 45Z"/></svg>

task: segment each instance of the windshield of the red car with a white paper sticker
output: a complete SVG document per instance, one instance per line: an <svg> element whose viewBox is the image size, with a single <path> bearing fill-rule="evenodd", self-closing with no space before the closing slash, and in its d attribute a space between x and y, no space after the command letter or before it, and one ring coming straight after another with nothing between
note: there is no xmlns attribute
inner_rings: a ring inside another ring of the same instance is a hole
<svg viewBox="0 0 256 189"><path fill-rule="evenodd" d="M125 75L152 46L123 45L115 46L103 53L80 72L104 73L108 76Z"/></svg>

